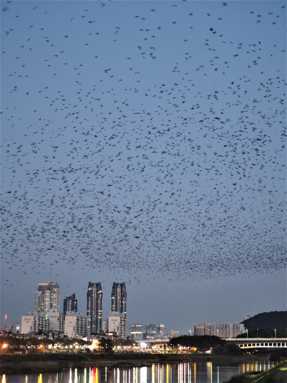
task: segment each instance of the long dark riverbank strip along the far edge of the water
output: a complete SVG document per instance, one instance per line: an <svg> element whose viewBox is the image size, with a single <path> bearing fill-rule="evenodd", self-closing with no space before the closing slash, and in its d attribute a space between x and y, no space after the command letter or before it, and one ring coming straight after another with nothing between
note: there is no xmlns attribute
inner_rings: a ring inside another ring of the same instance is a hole
<svg viewBox="0 0 287 383"><path fill-rule="evenodd" d="M63 368L91 367L105 365L113 367L143 367L153 363L184 363L211 361L217 365L239 364L252 361L266 361L266 355L244 354L240 356L216 356L202 354L151 354L121 353L111 356L90 353L43 353L24 355L1 355L0 373L57 372Z"/></svg>

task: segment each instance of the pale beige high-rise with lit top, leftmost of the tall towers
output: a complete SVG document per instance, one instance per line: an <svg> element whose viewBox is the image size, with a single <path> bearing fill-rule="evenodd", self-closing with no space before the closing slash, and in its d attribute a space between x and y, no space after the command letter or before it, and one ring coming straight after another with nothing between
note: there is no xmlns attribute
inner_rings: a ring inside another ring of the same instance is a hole
<svg viewBox="0 0 287 383"><path fill-rule="evenodd" d="M35 311L47 314L50 309L59 311L60 286L57 282L39 283L35 293Z"/></svg>

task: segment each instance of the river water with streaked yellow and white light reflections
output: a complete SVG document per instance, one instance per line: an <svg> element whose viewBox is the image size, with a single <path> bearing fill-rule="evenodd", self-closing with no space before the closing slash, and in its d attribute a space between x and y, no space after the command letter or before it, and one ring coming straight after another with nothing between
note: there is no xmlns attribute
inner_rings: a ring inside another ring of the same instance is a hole
<svg viewBox="0 0 287 383"><path fill-rule="evenodd" d="M276 364L276 363L275 363ZM61 372L2 375L1 383L223 383L231 376L265 371L274 362L217 365L214 362L154 363L149 367L81 367Z"/></svg>

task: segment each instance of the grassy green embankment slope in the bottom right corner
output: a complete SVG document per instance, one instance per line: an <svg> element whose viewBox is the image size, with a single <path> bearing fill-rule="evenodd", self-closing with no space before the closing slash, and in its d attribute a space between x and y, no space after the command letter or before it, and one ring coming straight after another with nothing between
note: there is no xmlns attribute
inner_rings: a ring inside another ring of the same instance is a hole
<svg viewBox="0 0 287 383"><path fill-rule="evenodd" d="M287 383L287 360L264 372L249 372L232 376L229 383Z"/></svg>

